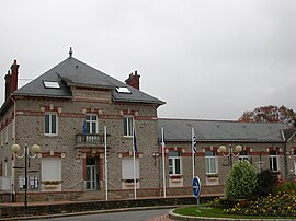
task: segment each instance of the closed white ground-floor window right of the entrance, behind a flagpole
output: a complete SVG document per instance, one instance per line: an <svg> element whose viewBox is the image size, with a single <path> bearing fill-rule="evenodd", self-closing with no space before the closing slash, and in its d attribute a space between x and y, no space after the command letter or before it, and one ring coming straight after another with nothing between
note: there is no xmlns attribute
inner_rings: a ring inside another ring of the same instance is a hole
<svg viewBox="0 0 296 221"><path fill-rule="evenodd" d="M139 159L135 159L136 166L136 179L139 179ZM134 159L133 158L123 158L122 159L122 179L123 181L132 181L134 179Z"/></svg>

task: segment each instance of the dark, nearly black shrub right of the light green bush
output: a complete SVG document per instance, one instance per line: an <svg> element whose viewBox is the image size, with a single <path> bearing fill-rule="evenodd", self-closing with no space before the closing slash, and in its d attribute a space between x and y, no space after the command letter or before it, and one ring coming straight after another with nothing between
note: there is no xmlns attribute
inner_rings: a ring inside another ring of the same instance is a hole
<svg viewBox="0 0 296 221"><path fill-rule="evenodd" d="M264 170L257 175L258 177L258 188L257 195L266 197L273 191L277 184L277 176L270 170Z"/></svg>

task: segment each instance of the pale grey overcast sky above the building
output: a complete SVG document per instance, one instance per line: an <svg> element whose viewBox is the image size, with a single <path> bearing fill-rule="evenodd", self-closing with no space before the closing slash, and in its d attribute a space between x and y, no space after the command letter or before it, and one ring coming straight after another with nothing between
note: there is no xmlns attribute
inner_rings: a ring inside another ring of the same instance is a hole
<svg viewBox="0 0 296 221"><path fill-rule="evenodd" d="M1 0L0 97L73 57L164 102L160 117L238 119L296 111L295 0Z"/></svg>

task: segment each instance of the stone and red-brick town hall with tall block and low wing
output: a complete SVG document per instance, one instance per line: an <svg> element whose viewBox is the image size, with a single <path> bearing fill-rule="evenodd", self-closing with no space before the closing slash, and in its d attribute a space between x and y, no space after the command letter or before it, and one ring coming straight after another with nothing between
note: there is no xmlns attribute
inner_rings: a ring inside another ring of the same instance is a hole
<svg viewBox="0 0 296 221"><path fill-rule="evenodd" d="M220 196L237 160L278 178L295 173L296 130L286 124L158 118L164 102L140 91L137 71L122 82L71 50L20 89L19 67L4 77L0 109L0 191L18 200L24 191L29 200L191 195L193 175L204 194Z"/></svg>

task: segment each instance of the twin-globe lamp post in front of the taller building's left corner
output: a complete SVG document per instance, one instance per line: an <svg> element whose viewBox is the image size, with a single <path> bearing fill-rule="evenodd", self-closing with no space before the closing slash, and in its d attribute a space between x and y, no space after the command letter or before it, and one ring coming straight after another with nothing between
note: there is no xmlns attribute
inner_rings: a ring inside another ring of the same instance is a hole
<svg viewBox="0 0 296 221"><path fill-rule="evenodd" d="M38 144L33 144L31 148L31 151L33 152L33 155L30 154L29 151L29 147L27 143L25 142L24 146L24 152L21 155L18 155L18 153L21 151L21 147L16 143L12 144L11 147L11 151L15 154L16 158L19 159L23 159L24 158L24 167L14 167L14 168L24 168L25 172L25 185L24 185L24 189L25 189L25 199L24 199L24 206L27 206L27 198L26 198L26 190L27 190L27 159L31 158L36 158L37 153L41 152L41 147Z"/></svg>

